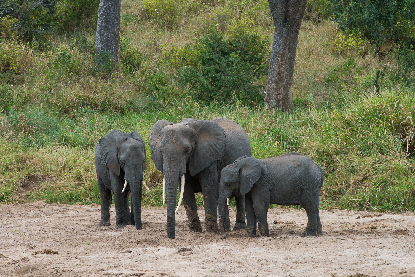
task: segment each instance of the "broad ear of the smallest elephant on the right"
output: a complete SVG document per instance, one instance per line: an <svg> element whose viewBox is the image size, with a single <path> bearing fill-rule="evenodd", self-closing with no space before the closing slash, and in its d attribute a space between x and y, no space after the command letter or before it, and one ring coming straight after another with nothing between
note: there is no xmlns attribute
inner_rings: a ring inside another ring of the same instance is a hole
<svg viewBox="0 0 415 277"><path fill-rule="evenodd" d="M254 157L239 158L235 165L239 167L239 190L244 196L252 189L252 186L259 180L262 172L262 164Z"/></svg>

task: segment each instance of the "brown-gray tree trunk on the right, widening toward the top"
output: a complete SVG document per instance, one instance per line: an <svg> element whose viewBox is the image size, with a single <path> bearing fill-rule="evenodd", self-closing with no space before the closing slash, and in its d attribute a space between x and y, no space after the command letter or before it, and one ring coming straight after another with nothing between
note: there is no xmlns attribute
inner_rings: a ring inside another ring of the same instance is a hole
<svg viewBox="0 0 415 277"><path fill-rule="evenodd" d="M265 102L290 112L298 32L307 0L268 0L274 21Z"/></svg>

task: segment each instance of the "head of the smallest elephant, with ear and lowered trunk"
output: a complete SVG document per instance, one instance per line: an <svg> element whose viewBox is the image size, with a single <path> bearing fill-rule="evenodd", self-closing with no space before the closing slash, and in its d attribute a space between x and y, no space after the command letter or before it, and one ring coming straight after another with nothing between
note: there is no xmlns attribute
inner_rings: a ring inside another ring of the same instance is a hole
<svg viewBox="0 0 415 277"><path fill-rule="evenodd" d="M229 205L229 199L241 194L247 194L252 186L259 180L262 172L262 164L254 157L240 157L232 164L224 167L219 182L219 229L224 233L222 220L225 218L225 203ZM227 207L226 207L227 210Z"/></svg>

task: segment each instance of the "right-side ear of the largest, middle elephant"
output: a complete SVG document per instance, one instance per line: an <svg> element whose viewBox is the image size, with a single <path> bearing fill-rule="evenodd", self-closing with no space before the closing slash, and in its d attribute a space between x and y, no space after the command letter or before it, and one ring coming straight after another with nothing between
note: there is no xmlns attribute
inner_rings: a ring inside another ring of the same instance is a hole
<svg viewBox="0 0 415 277"><path fill-rule="evenodd" d="M186 124L196 131L195 149L189 161L190 175L194 176L213 161L222 158L225 152L225 131L212 120L197 120Z"/></svg>

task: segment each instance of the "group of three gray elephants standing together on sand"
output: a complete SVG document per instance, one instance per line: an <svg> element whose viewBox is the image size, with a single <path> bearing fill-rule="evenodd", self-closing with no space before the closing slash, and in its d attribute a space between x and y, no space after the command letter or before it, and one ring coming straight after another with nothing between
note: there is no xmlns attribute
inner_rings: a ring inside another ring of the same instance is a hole
<svg viewBox="0 0 415 277"><path fill-rule="evenodd" d="M158 120L151 129L150 150L151 159L164 175L168 238L175 238L175 214L182 200L190 230L202 232L195 193L203 194L206 230L221 233L221 238L230 231L227 205L233 197L237 211L234 230L247 229L248 235L255 237L258 223L261 235L268 236L267 210L273 203L302 206L308 216L302 235L322 234L318 206L324 174L303 154L255 159L245 130L226 118L184 118L177 124ZM110 225L113 194L116 228L132 224L142 229L143 185L148 189L143 181L145 165L145 142L137 131L123 134L114 130L99 140L95 167L101 198L100 226Z"/></svg>

